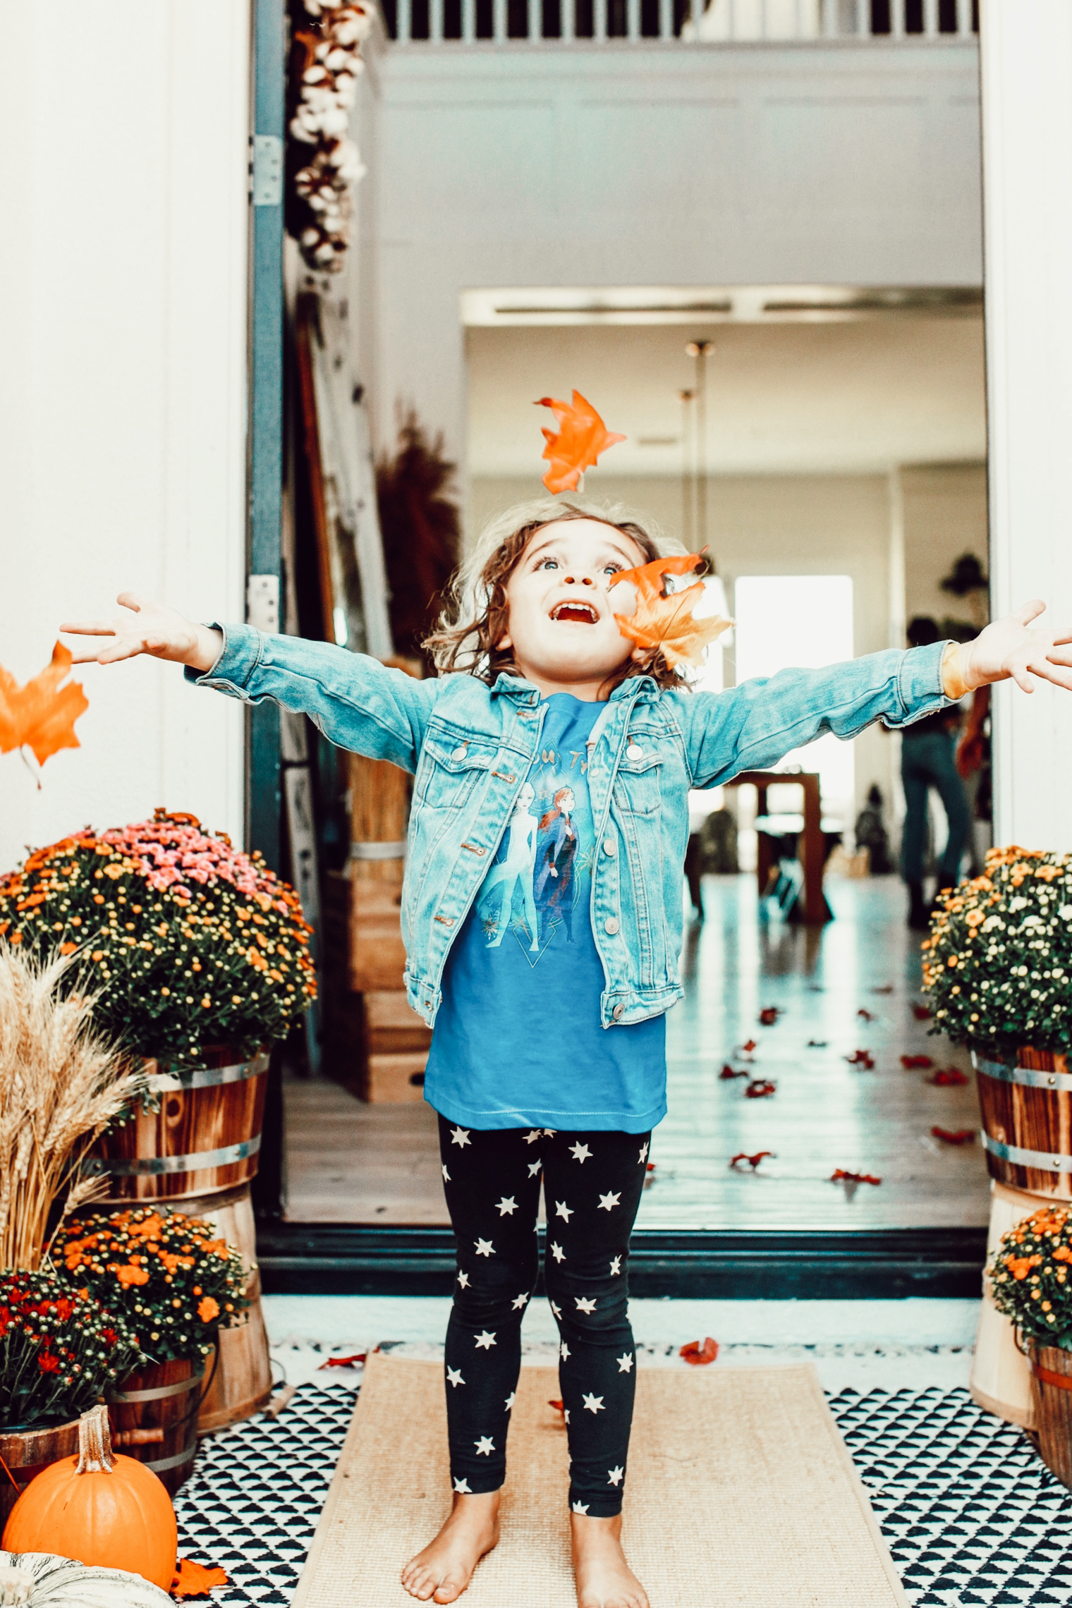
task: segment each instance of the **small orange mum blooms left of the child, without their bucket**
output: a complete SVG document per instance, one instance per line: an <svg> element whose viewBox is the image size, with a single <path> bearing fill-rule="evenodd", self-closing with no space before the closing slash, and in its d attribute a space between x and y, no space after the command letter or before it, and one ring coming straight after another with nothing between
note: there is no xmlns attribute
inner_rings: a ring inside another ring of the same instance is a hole
<svg viewBox="0 0 1072 1608"><path fill-rule="evenodd" d="M149 1362L204 1357L249 1306L238 1251L201 1217L140 1206L66 1222L53 1261L122 1312Z"/></svg>

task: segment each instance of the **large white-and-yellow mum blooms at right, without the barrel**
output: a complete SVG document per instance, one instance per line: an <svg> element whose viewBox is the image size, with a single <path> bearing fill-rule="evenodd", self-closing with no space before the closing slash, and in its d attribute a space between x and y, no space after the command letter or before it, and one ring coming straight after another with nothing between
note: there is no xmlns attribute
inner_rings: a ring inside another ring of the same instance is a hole
<svg viewBox="0 0 1072 1608"><path fill-rule="evenodd" d="M1000 1055L1072 1048L1072 855L990 849L923 944L932 1032Z"/></svg>

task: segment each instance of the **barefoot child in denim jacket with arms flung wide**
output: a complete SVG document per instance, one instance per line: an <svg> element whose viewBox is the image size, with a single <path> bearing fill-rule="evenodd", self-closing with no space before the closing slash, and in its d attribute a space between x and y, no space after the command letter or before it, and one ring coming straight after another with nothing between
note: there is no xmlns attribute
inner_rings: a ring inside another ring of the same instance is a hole
<svg viewBox="0 0 1072 1608"><path fill-rule="evenodd" d="M824 732L905 727L987 682L1072 687L1072 632L1041 603L966 645L873 653L691 693L614 614L611 577L667 547L619 510L550 498L509 510L460 574L431 638L440 675L251 626L194 626L122 593L127 613L63 627L76 653L185 664L199 687L304 711L342 748L415 772L402 921L410 1002L434 1023L458 1240L445 1393L453 1510L402 1571L455 1602L498 1539L521 1320L537 1280L559 1327L580 1608L648 1608L620 1547L635 1348L628 1238L651 1129L665 1113L664 1013L681 997L688 791L775 765Z"/></svg>

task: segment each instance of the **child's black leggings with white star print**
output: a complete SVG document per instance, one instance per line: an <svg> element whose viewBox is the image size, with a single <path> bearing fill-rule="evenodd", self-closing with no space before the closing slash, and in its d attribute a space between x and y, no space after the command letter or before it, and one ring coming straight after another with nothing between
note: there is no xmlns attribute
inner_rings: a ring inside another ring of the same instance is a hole
<svg viewBox="0 0 1072 1608"><path fill-rule="evenodd" d="M559 1389L575 1513L622 1512L636 1352L627 1312L628 1237L649 1134L463 1129L439 1119L444 1192L458 1240L447 1328L447 1430L455 1491L498 1491L521 1368L521 1319L538 1272L558 1322Z"/></svg>

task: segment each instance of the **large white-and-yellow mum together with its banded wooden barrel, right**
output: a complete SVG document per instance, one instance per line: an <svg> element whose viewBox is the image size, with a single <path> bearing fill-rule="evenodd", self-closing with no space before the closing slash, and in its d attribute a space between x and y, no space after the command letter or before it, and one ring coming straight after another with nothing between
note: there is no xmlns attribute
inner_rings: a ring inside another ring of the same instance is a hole
<svg viewBox="0 0 1072 1608"><path fill-rule="evenodd" d="M990 1175L1067 1198L1072 855L992 849L937 900L923 976L932 1032L972 1052Z"/></svg>

